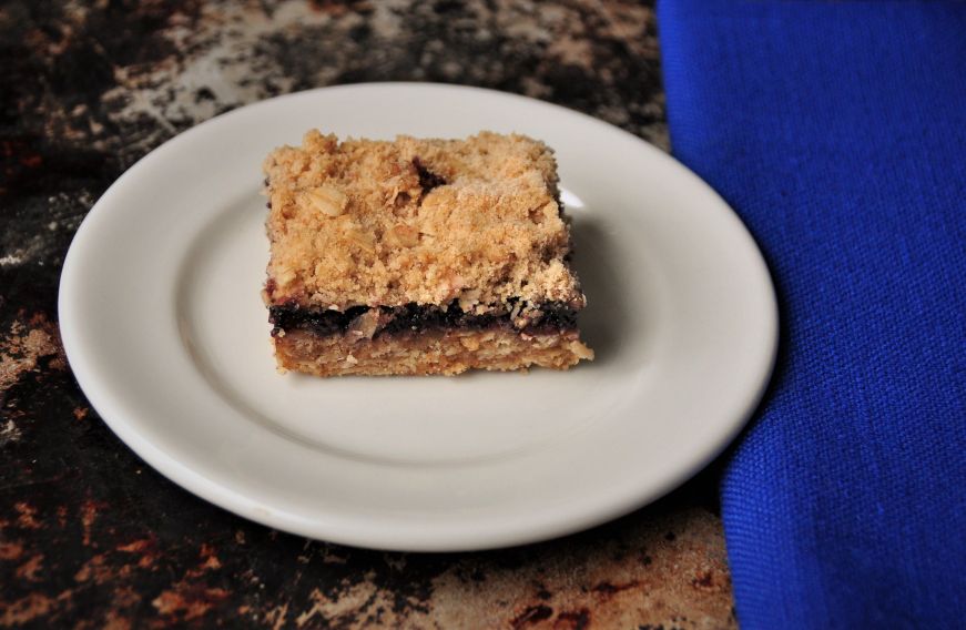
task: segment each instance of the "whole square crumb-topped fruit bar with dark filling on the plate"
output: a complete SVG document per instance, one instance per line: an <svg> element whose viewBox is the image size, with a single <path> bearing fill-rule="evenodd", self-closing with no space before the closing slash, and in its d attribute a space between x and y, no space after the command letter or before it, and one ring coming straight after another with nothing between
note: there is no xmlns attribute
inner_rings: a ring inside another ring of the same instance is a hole
<svg viewBox="0 0 966 630"><path fill-rule="evenodd" d="M311 131L264 169L263 295L283 370L459 374L593 358L543 143Z"/></svg>

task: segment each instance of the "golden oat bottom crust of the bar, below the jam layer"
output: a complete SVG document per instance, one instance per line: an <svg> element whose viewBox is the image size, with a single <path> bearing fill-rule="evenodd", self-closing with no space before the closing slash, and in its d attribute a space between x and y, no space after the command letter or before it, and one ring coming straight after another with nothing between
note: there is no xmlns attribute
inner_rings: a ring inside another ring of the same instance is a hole
<svg viewBox="0 0 966 630"><path fill-rule="evenodd" d="M449 329L363 341L293 331L275 338L275 357L279 368L316 376L421 376L531 366L567 369L592 359L593 352L577 331L529 336L508 328Z"/></svg>

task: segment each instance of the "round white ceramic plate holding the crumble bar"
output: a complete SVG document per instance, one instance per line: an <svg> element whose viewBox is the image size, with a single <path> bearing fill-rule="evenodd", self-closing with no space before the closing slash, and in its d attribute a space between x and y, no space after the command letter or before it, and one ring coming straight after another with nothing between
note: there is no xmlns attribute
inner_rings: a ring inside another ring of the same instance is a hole
<svg viewBox="0 0 966 630"><path fill-rule="evenodd" d="M518 131L555 148L598 359L456 378L276 374L260 167L314 126ZM91 404L162 474L278 529L406 550L536 541L658 498L745 423L777 329L754 242L678 162L562 108L426 84L272 99L165 143L84 220L59 307Z"/></svg>

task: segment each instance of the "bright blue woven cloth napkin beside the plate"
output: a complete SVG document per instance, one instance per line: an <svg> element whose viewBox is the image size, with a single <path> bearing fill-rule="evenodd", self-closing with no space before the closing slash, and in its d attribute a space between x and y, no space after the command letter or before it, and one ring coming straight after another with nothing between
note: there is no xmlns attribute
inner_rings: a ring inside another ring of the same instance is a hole
<svg viewBox="0 0 966 630"><path fill-rule="evenodd" d="M674 154L779 365L726 464L744 628L966 628L966 3L663 0Z"/></svg>

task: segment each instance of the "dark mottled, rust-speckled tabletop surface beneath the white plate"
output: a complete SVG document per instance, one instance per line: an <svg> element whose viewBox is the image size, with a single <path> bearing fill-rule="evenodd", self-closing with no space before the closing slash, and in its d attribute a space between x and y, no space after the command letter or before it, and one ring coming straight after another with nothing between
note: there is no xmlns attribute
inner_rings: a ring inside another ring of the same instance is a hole
<svg viewBox="0 0 966 630"><path fill-rule="evenodd" d="M667 148L650 3L0 6L0 626L726 628L714 470L562 540L467 555L307 541L209 506L90 409L57 326L71 236L128 166L260 99L375 80L545 99Z"/></svg>

